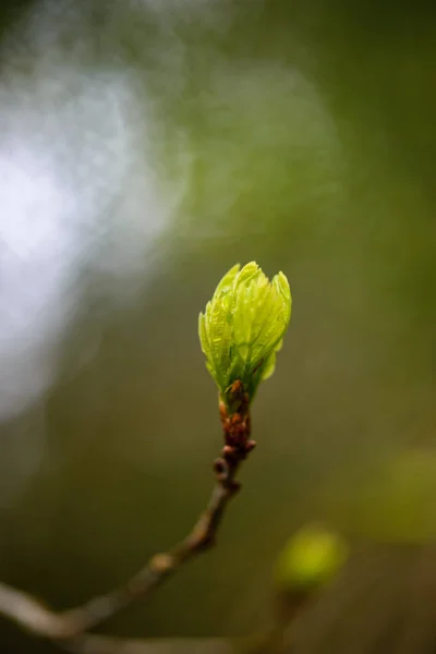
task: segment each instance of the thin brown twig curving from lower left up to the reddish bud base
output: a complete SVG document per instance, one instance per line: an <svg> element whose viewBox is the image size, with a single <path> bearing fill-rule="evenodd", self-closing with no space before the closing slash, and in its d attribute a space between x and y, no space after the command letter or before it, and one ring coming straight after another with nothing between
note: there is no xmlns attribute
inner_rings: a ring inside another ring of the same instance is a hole
<svg viewBox="0 0 436 654"><path fill-rule="evenodd" d="M131 602L140 597L148 598L183 564L215 545L227 505L239 489L234 476L247 451L228 446L223 448L222 458L217 459L214 464L216 485L209 504L191 533L169 552L153 556L123 585L94 597L77 608L58 614L33 596L0 583L0 614L35 635L60 641L75 652L94 654L95 650L88 645L92 646L96 637L85 635L87 630L100 625Z"/></svg>

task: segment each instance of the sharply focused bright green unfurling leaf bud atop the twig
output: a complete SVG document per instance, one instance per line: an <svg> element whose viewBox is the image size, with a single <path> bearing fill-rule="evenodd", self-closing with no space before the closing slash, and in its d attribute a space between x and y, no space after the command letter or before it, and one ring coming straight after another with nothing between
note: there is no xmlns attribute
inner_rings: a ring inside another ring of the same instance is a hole
<svg viewBox="0 0 436 654"><path fill-rule="evenodd" d="M228 403L228 390L240 380L249 402L263 379L274 373L291 317L291 291L282 272L266 277L256 263L233 266L219 282L198 331L207 368ZM228 407L229 408L229 407Z"/></svg>

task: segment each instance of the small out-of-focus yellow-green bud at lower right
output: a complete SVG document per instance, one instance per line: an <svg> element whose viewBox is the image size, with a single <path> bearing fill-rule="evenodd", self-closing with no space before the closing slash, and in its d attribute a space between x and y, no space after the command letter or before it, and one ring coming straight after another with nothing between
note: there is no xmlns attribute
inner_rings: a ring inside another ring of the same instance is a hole
<svg viewBox="0 0 436 654"><path fill-rule="evenodd" d="M308 525L298 531L278 557L275 570L277 590L310 592L327 584L349 557L340 534Z"/></svg>

